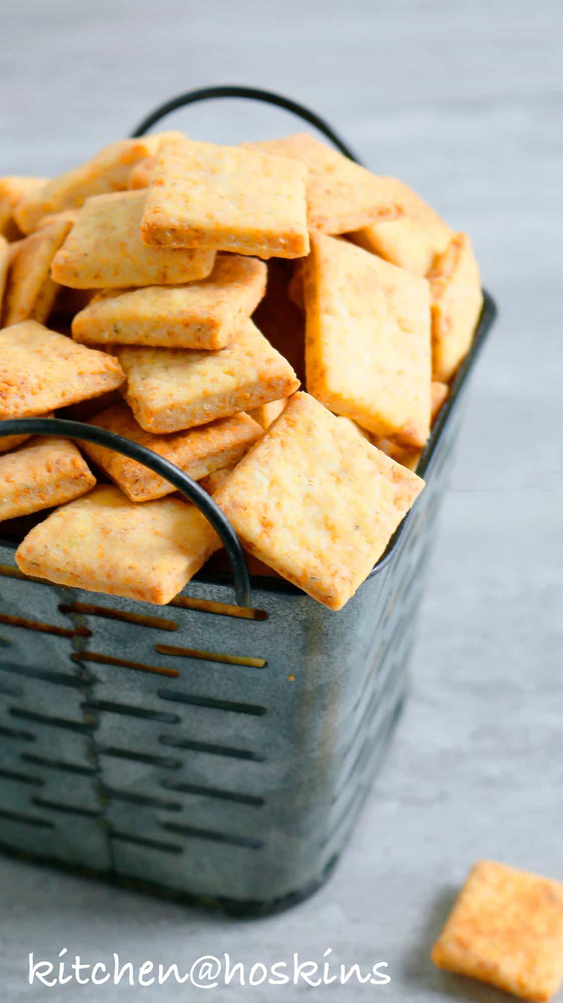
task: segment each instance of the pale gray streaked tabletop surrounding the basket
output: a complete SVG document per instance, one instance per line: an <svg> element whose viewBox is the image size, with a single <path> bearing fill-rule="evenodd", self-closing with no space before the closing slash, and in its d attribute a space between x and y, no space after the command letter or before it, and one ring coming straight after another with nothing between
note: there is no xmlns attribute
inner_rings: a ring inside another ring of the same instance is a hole
<svg viewBox="0 0 563 1003"><path fill-rule="evenodd" d="M26 987L26 957L173 961L299 950L392 983L321 999L500 1001L428 960L455 890L488 857L563 880L562 60L558 0L20 0L1 4L1 172L51 175L154 104L214 82L267 86L330 118L378 172L474 239L501 320L476 372L414 657L414 689L352 845L291 913L236 923L0 859L0 998L137 1000ZM235 141L293 129L226 102L178 114ZM217 989L292 1001L313 990ZM198 998L145 990L155 1003Z"/></svg>

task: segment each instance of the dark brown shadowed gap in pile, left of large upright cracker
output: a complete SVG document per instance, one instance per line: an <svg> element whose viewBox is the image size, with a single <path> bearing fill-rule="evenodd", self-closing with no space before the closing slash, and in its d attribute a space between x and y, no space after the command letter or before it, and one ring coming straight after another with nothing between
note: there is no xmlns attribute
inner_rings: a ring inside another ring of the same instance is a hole
<svg viewBox="0 0 563 1003"><path fill-rule="evenodd" d="M301 383L305 383L305 317L289 298L289 262L267 263L265 296L258 303L253 321L270 345L288 359Z"/></svg>

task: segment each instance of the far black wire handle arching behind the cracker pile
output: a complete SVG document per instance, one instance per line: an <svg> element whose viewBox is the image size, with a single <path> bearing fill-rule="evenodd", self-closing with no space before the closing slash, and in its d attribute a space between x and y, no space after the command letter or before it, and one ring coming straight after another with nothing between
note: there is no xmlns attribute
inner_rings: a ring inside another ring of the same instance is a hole
<svg viewBox="0 0 563 1003"><path fill-rule="evenodd" d="M164 101L163 104L159 104L157 108L154 108L154 111L151 111L150 114L146 115L139 122L131 135L133 138L144 135L147 129L151 128L157 121L160 121L164 115L175 111L176 108L183 108L187 104L195 104L196 101L206 101L209 98L213 99L216 97L247 97L253 101L263 101L265 104L274 104L278 108L291 111L293 114L305 119L311 125L315 125L315 128L323 132L340 149L341 153L349 156L351 160L356 160L357 163L360 163L360 160L348 143L344 139L341 139L340 135L335 132L334 128L321 115L318 115L315 111L311 111L305 104L293 101L291 97L275 94L271 90L260 90L259 87L238 87L233 84L221 84L217 87L199 87L197 90L187 90L184 94L171 97L169 101Z"/></svg>

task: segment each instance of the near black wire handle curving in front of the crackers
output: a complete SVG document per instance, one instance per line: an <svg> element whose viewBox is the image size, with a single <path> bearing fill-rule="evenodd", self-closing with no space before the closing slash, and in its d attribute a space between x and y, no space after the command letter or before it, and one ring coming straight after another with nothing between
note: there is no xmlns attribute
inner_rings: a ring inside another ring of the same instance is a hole
<svg viewBox="0 0 563 1003"><path fill-rule="evenodd" d="M236 602L238 606L250 605L248 567L238 537L211 496L195 480L183 473L178 466L138 442L132 442L131 439L116 435L115 432L98 428L96 425L84 424L82 421L69 421L66 418L9 418L0 421L0 438L4 438L6 435L25 434L60 435L66 438L95 442L97 445L114 449L115 452L120 452L121 455L128 456L129 459L136 459L143 466L148 466L153 473L164 477L196 506L205 519L209 521L228 555Z"/></svg>

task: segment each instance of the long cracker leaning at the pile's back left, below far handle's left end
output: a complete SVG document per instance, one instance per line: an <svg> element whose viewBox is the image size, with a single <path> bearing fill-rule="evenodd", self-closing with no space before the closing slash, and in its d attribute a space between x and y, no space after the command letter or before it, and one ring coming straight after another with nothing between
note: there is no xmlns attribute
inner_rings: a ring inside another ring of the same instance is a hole
<svg viewBox="0 0 563 1003"><path fill-rule="evenodd" d="M35 230L42 217L67 209L79 209L86 199L127 188L131 168L148 156L157 145L156 136L118 139L100 149L85 163L53 178L22 195L14 216L24 234Z"/></svg>

